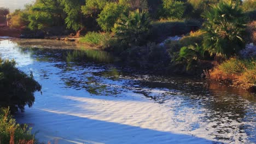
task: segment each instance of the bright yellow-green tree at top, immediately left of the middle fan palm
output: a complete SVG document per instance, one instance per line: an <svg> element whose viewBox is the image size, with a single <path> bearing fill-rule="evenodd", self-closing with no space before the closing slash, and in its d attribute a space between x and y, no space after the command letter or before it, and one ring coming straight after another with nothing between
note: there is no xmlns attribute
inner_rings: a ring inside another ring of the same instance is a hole
<svg viewBox="0 0 256 144"><path fill-rule="evenodd" d="M98 15L98 25L100 25L103 31L111 31L115 22L117 22L122 14L126 14L127 10L126 5L115 2L107 3L100 15Z"/></svg>

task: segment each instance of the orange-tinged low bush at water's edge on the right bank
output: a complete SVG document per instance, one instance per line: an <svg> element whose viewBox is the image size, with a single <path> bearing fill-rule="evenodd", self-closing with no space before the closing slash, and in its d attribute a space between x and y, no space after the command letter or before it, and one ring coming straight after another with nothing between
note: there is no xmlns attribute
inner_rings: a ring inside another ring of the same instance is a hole
<svg viewBox="0 0 256 144"><path fill-rule="evenodd" d="M230 58L213 69L210 78L249 88L256 85L255 59Z"/></svg>

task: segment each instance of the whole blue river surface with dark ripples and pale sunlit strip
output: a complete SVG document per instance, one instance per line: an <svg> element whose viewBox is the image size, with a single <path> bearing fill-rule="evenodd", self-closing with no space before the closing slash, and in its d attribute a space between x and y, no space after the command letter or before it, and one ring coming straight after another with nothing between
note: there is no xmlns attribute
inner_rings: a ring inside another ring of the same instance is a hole
<svg viewBox="0 0 256 144"><path fill-rule="evenodd" d="M2 40L0 56L42 85L16 116L40 142L256 143L256 95L241 89L140 74L111 53L56 40Z"/></svg>

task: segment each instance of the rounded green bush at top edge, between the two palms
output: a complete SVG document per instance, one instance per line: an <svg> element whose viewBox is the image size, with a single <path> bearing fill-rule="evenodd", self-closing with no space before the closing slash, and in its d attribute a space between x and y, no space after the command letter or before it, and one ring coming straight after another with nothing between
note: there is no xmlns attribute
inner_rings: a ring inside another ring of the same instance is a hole
<svg viewBox="0 0 256 144"><path fill-rule="evenodd" d="M181 1L163 0L162 7L159 9L159 17L162 19L181 19L185 5Z"/></svg>

